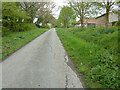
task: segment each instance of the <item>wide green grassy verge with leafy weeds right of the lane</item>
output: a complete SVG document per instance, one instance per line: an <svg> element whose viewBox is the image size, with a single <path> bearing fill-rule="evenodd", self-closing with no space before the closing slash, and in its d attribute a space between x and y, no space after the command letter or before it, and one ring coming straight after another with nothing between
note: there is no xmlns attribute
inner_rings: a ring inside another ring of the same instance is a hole
<svg viewBox="0 0 120 90"><path fill-rule="evenodd" d="M57 29L69 57L90 88L118 88L118 29Z"/></svg>

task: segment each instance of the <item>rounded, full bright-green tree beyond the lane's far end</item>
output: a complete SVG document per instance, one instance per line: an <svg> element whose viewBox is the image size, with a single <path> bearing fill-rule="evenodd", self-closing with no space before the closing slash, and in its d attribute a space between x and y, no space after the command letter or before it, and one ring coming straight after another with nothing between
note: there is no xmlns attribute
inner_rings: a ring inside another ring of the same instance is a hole
<svg viewBox="0 0 120 90"><path fill-rule="evenodd" d="M69 24L72 24L73 21L76 19L74 11L71 7L64 6L60 11L59 15L59 22L64 25L64 27L69 27Z"/></svg>

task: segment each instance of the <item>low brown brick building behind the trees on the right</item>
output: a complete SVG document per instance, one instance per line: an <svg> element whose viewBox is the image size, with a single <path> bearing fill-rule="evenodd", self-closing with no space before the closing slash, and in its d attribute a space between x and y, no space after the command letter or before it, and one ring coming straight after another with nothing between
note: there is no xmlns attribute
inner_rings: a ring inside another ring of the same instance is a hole
<svg viewBox="0 0 120 90"><path fill-rule="evenodd" d="M110 12L108 26L113 26L116 22L118 22L118 14ZM85 27L100 27L100 26L105 27L106 23L107 23L106 14L103 14L96 18L86 18L84 20ZM76 23L76 26L81 26L81 22L78 21Z"/></svg>

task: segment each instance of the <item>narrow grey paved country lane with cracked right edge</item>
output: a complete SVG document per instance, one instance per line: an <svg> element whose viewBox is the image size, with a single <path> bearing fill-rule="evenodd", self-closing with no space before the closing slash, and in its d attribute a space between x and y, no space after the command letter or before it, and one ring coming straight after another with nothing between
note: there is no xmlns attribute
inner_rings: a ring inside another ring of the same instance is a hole
<svg viewBox="0 0 120 90"><path fill-rule="evenodd" d="M2 88L83 88L53 28L2 64Z"/></svg>

